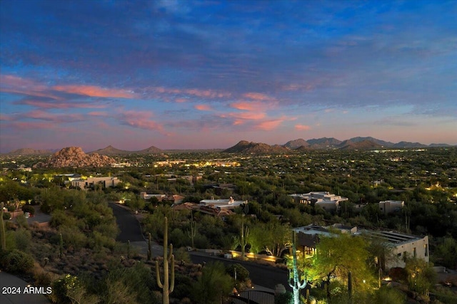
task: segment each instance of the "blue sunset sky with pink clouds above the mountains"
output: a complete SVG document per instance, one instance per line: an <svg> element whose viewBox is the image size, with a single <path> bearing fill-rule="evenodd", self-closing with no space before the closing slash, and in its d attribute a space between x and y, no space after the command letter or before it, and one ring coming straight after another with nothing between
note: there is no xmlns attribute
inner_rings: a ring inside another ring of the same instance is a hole
<svg viewBox="0 0 457 304"><path fill-rule="evenodd" d="M457 145L457 1L0 1L0 152Z"/></svg>

